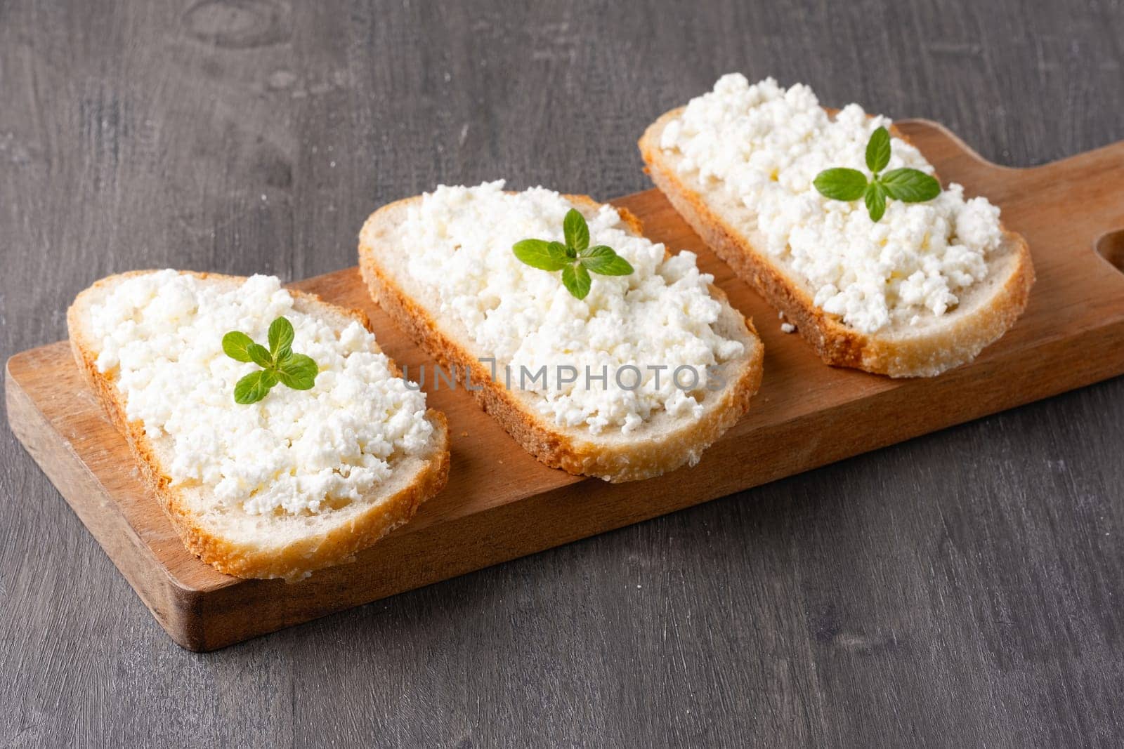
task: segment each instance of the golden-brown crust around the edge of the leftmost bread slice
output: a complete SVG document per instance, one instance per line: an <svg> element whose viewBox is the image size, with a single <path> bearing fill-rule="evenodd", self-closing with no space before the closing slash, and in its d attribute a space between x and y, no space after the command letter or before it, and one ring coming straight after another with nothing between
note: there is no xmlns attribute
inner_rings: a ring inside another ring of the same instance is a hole
<svg viewBox="0 0 1124 749"><path fill-rule="evenodd" d="M81 334L80 316L83 295L118 283L123 278L144 275L152 271L134 271L108 276L79 294L66 312L71 350L79 372L97 396L102 409L117 427L133 453L140 476L148 491L160 501L180 539L188 551L196 555L219 572L236 577L274 578L296 582L316 569L351 561L354 555L371 546L395 528L406 523L417 512L420 504L437 494L448 478L448 428L445 415L429 409L426 418L434 426L434 440L422 469L415 478L393 495L384 497L366 508L351 522L335 526L325 532L298 539L285 545L280 551L262 549L252 544L224 538L201 522L184 501L181 490L171 485L171 478L161 469L155 447L139 420L129 421L125 403L114 381L98 371L98 355L93 341ZM214 273L190 273L201 280L241 283L245 278ZM366 316L359 310L329 304L316 294L290 290L294 299L307 304L327 308L336 314L361 322L370 330ZM391 369L397 367L391 362Z"/></svg>

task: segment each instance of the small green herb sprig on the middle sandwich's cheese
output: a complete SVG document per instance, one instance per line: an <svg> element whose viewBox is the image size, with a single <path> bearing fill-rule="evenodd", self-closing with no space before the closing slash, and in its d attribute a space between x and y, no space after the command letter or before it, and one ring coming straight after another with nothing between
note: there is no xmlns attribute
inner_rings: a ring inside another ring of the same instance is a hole
<svg viewBox="0 0 1124 749"><path fill-rule="evenodd" d="M589 225L586 217L571 208L562 221L565 244L545 239L524 239L511 246L522 262L542 271L562 271L562 285L577 296L586 299L592 285L590 273L600 275L628 275L633 266L616 250L605 245L589 246Z"/></svg>

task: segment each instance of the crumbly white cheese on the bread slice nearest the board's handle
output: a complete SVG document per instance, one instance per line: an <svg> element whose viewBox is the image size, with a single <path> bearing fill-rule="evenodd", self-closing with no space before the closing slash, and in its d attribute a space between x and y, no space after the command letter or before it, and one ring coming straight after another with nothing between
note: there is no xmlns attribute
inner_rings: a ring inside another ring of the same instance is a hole
<svg viewBox="0 0 1124 749"><path fill-rule="evenodd" d="M833 119L806 85L785 90L772 79L750 85L735 73L692 99L660 145L681 155L683 174L753 212L749 228L808 282L816 305L874 332L954 308L958 292L987 275L987 255L1001 239L999 209L985 198L966 201L959 184L926 203L890 200L878 223L862 201L816 191L813 181L825 168L846 166L869 177L867 141L889 122L868 118L859 104ZM903 166L933 172L921 152L892 138L887 170Z"/></svg>

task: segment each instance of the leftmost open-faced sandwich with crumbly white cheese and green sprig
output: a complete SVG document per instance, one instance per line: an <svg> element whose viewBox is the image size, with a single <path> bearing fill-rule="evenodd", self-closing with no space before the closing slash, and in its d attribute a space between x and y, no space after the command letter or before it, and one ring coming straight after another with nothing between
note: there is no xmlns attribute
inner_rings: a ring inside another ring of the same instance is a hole
<svg viewBox="0 0 1124 749"><path fill-rule="evenodd" d="M361 312L250 278L103 278L66 318L79 368L188 550L300 579L409 520L448 475L445 418Z"/></svg>

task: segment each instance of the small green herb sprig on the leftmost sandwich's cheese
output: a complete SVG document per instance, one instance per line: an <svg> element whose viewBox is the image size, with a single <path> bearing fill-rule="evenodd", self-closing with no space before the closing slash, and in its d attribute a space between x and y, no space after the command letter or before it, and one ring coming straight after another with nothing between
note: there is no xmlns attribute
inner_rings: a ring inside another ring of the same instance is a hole
<svg viewBox="0 0 1124 749"><path fill-rule="evenodd" d="M292 323L278 318L270 323L269 344L255 344L244 332L232 330L223 336L223 351L236 362L253 362L262 367L251 372L234 386L234 401L243 405L256 403L273 385L281 383L293 390L311 390L320 368L311 357L292 353Z"/></svg>

